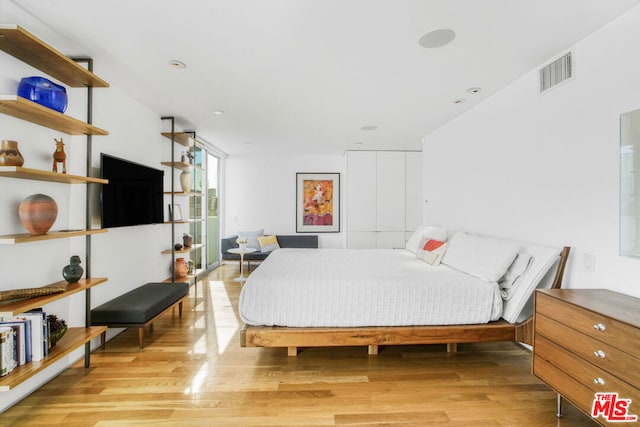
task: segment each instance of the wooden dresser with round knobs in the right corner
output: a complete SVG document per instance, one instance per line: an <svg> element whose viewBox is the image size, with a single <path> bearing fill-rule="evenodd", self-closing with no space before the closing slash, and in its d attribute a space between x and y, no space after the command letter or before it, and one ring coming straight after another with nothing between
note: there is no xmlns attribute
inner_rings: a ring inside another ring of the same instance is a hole
<svg viewBox="0 0 640 427"><path fill-rule="evenodd" d="M536 291L533 374L558 393L558 416L562 398L592 416L596 393L618 393L615 410L607 400L598 405L598 423L640 416L640 299L604 289Z"/></svg>

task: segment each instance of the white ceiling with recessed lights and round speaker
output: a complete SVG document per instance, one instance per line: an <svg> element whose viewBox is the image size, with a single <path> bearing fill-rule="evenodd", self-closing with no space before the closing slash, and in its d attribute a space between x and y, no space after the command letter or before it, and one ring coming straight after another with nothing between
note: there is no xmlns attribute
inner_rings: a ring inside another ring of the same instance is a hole
<svg viewBox="0 0 640 427"><path fill-rule="evenodd" d="M54 34L60 50L92 56L100 77L231 155L316 155L420 149L424 135L639 3L0 0L0 23ZM6 22L17 10L40 28ZM455 40L418 45L438 28ZM482 91L466 92L474 86Z"/></svg>

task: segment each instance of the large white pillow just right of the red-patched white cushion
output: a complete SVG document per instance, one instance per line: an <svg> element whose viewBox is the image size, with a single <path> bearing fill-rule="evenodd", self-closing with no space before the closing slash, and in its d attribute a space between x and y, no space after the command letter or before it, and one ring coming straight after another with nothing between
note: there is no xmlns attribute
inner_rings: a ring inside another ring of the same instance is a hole
<svg viewBox="0 0 640 427"><path fill-rule="evenodd" d="M442 263L487 282L497 282L518 255L513 242L458 232L448 241Z"/></svg>

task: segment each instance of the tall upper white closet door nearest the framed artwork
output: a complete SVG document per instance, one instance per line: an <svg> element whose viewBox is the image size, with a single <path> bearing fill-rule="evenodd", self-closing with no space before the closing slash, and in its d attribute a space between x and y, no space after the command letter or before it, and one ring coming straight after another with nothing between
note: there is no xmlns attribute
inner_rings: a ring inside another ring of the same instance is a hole
<svg viewBox="0 0 640 427"><path fill-rule="evenodd" d="M348 231L376 229L376 153L347 153L347 227ZM373 246L372 246L373 247Z"/></svg>

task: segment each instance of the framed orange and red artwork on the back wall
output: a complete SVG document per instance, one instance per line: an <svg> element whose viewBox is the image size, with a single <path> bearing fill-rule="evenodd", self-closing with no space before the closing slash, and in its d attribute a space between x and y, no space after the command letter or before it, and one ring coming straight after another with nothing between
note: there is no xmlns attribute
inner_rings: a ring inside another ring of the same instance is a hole
<svg viewBox="0 0 640 427"><path fill-rule="evenodd" d="M339 173L296 173L296 232L340 232Z"/></svg>

